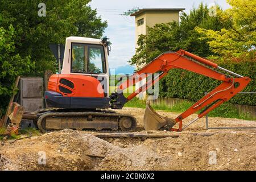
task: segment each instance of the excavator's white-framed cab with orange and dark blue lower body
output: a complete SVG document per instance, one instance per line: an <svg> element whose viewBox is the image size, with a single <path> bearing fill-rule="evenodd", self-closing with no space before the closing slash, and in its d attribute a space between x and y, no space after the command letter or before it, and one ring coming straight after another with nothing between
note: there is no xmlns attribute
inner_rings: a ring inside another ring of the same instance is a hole
<svg viewBox="0 0 256 182"><path fill-rule="evenodd" d="M45 93L49 107L106 109L109 107L109 42L66 39L61 74L52 75Z"/></svg>

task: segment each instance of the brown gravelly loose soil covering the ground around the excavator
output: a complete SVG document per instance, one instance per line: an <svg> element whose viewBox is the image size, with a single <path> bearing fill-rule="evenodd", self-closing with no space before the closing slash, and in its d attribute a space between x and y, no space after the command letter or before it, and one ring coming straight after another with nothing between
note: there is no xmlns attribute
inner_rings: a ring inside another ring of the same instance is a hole
<svg viewBox="0 0 256 182"><path fill-rule="evenodd" d="M144 131L144 109L125 107L118 112L137 118L137 133L170 133ZM179 115L158 113L170 118ZM195 117L185 119L184 125ZM209 127L256 127L256 122L209 118ZM202 133L213 135L198 135ZM97 138L93 134L66 129L14 143L6 140L0 146L0 169L256 170L256 129L206 130L205 118L201 118L178 133L177 138Z"/></svg>

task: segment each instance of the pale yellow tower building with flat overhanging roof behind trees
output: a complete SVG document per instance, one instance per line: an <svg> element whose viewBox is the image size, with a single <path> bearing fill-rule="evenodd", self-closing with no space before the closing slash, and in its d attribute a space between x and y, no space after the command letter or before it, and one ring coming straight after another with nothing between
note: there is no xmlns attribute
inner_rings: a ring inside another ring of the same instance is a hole
<svg viewBox="0 0 256 182"><path fill-rule="evenodd" d="M185 10L179 9L141 9L131 14L135 16L135 44L138 47L137 42L139 35L146 35L146 29L148 27L154 27L158 23L168 23L172 21L179 21L179 12Z"/></svg>

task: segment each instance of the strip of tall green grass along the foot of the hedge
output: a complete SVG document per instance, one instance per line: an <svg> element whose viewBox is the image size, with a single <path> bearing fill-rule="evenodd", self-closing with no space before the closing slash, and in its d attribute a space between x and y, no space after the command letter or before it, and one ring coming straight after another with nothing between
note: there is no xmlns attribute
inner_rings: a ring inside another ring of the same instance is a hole
<svg viewBox="0 0 256 182"><path fill-rule="evenodd" d="M126 94L125 94L126 95ZM194 103L191 101L183 101L180 102L172 107L167 105L151 105L155 110L164 110L164 111L170 111L174 113L183 113L185 110L187 110L190 106L192 106ZM146 107L146 101L139 100L137 97L133 98L129 102L125 104L125 107L139 107L139 108L145 108ZM197 113L200 113L198 111ZM250 117L247 114L240 114L238 109L226 102L216 109L210 111L208 113L209 117L222 117L222 118L237 118L237 119L246 119L246 120L255 120L254 118Z"/></svg>

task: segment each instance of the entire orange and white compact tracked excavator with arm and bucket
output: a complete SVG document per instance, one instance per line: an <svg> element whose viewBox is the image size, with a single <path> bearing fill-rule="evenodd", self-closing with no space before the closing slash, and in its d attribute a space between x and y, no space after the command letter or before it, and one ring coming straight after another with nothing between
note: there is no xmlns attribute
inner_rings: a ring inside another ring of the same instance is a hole
<svg viewBox="0 0 256 182"><path fill-rule="evenodd" d="M156 81L166 76L170 69L185 69L221 81L219 86L175 119L164 118L149 104L146 105L146 130L181 131L230 100L250 82L249 77L243 77L207 59L179 50L162 53L125 81L121 81L115 93L109 94L109 51L108 39L67 38L61 74L49 78L48 90L44 94L50 108L35 113L25 111L22 118L34 120L43 133L61 129L131 131L137 126L136 119L132 115L119 114L108 108L122 109L126 102L138 93L145 92ZM218 71L229 74L224 75ZM159 73L158 77L147 79L146 84L134 93L128 97L123 96L124 89L154 73ZM183 119L199 110L198 116L183 126ZM175 129L173 126L176 123L179 125Z"/></svg>

